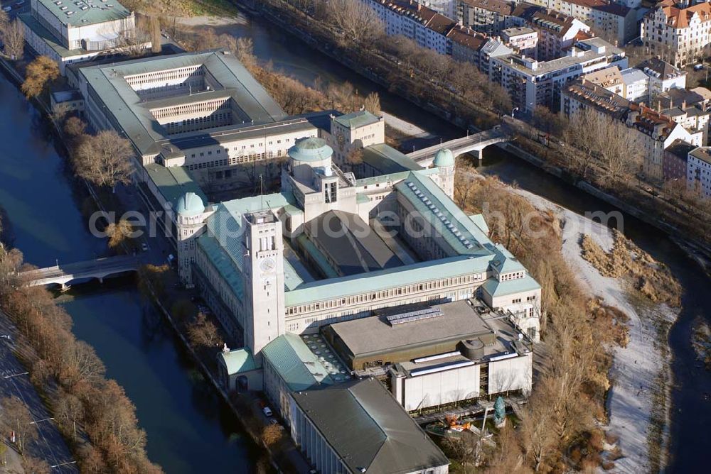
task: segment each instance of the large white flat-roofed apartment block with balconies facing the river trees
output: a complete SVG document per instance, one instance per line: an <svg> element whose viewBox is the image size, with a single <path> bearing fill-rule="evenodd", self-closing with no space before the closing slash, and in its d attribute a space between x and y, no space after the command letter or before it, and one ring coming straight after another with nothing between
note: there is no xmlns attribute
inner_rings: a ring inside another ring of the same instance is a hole
<svg viewBox="0 0 711 474"><path fill-rule="evenodd" d="M536 106L560 107L560 92L566 84L589 72L606 67L626 67L624 51L601 38L578 41L567 55L550 61L503 55L492 60L490 77L509 92L522 113Z"/></svg>

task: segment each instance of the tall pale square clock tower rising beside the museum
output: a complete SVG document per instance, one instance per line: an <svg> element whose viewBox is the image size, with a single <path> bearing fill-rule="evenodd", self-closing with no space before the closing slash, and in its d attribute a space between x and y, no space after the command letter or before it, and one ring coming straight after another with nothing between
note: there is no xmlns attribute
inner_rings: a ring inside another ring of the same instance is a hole
<svg viewBox="0 0 711 474"><path fill-rule="evenodd" d="M245 346L257 356L286 332L282 222L267 210L245 214L242 225Z"/></svg>

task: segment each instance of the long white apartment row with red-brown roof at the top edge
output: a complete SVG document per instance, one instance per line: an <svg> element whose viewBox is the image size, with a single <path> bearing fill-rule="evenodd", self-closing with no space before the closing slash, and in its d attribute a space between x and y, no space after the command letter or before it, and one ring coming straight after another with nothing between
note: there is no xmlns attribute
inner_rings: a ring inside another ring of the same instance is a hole
<svg viewBox="0 0 711 474"><path fill-rule="evenodd" d="M373 9L388 36L405 36L421 48L447 54L447 33L454 20L415 0L360 0Z"/></svg>

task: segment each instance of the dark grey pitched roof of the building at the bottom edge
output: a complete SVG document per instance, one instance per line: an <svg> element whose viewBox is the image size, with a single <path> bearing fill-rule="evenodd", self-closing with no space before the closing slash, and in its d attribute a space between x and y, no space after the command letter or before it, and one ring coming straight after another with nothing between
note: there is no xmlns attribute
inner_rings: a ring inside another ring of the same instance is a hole
<svg viewBox="0 0 711 474"><path fill-rule="evenodd" d="M378 380L292 393L351 473L405 474L449 465L449 459Z"/></svg>

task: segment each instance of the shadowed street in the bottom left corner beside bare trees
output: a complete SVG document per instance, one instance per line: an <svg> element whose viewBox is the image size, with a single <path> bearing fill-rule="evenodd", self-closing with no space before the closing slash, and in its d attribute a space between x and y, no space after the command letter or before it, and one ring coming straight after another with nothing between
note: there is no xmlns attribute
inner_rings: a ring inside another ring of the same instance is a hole
<svg viewBox="0 0 711 474"><path fill-rule="evenodd" d="M52 466L52 473L78 473L73 463L69 448L64 442L57 425L49 418L52 416L42 403L41 398L30 382L26 368L12 352L16 330L6 314L0 312L0 334L11 339L0 338L0 397L18 397L28 407L32 419L36 421L38 436L28 443L26 453L33 458L42 459ZM19 375L23 374L23 375ZM43 421L41 421L43 420ZM7 438L9 433L2 433Z"/></svg>

